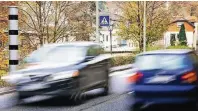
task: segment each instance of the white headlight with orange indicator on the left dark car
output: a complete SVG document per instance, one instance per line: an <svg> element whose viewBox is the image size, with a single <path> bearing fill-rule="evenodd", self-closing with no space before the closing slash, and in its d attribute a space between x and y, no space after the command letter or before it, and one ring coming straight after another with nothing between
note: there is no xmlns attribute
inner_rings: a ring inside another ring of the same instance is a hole
<svg viewBox="0 0 198 111"><path fill-rule="evenodd" d="M46 81L55 81L55 80L61 80L61 79L67 79L67 78L71 78L71 77L76 77L79 75L78 71L63 71L63 72L59 72L56 74L53 74L51 76L49 76Z"/></svg>

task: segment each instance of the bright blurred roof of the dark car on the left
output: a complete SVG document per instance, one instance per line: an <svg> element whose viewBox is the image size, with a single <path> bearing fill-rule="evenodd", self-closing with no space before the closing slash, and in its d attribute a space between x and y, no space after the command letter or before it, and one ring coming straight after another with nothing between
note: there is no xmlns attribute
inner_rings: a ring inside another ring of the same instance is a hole
<svg viewBox="0 0 198 111"><path fill-rule="evenodd" d="M96 42L88 42L88 41L78 41L78 42L66 42L66 43L51 43L51 44L44 44L44 47L57 47L57 46L92 46L92 45L99 45Z"/></svg>

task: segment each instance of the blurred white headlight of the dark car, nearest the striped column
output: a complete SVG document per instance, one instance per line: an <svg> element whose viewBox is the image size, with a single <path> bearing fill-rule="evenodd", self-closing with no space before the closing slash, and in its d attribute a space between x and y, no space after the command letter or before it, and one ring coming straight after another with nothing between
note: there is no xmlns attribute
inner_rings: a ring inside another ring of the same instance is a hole
<svg viewBox="0 0 198 111"><path fill-rule="evenodd" d="M9 82L9 83L16 83L21 78L23 78L22 74L8 74L6 76L1 77L2 80Z"/></svg>

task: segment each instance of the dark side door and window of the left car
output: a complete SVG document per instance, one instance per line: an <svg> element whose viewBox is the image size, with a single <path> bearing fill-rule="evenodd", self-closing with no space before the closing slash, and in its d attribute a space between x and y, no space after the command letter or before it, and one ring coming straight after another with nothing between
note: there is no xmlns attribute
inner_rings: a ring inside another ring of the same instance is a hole
<svg viewBox="0 0 198 111"><path fill-rule="evenodd" d="M84 79L81 79L81 85L85 88L93 89L104 85L108 80L107 61L101 59L100 46L90 46L87 51L87 67L81 72Z"/></svg>

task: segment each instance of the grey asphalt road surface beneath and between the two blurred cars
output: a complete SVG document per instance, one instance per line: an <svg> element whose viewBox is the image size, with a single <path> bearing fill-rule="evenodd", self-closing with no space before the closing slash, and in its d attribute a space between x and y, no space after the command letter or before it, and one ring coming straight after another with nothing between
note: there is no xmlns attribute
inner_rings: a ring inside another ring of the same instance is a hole
<svg viewBox="0 0 198 111"><path fill-rule="evenodd" d="M0 111L129 111L130 95L126 92L126 75L114 74L110 79L110 95L101 96L102 89L87 93L86 101L75 106L65 97L35 96L17 103L17 93L0 95ZM180 106L177 106L180 107ZM152 109L152 108L151 108ZM184 111L170 106L160 106L149 111ZM189 111L188 109L186 111Z"/></svg>

